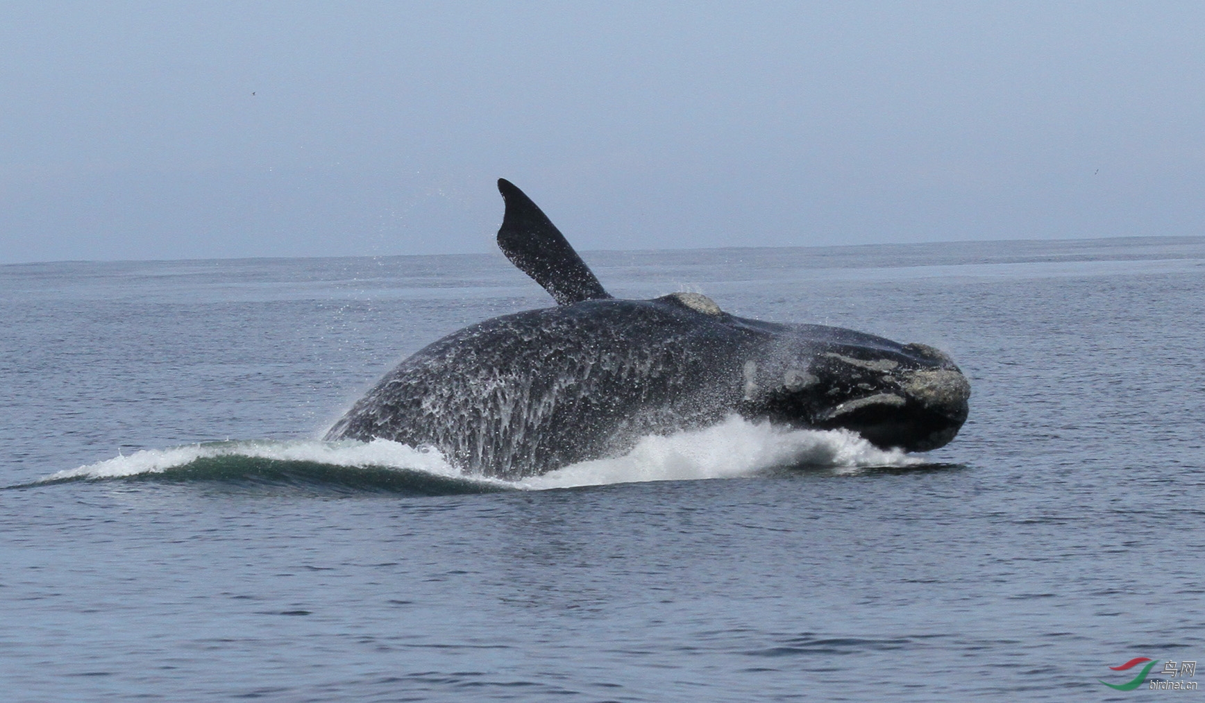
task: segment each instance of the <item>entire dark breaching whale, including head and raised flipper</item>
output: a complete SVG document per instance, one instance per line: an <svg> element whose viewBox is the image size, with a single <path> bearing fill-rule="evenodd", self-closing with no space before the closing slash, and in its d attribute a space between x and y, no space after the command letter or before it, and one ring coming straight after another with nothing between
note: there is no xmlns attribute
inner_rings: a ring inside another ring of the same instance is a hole
<svg viewBox="0 0 1205 703"><path fill-rule="evenodd" d="M423 348L327 433L434 447L500 478L619 455L641 437L739 414L847 429L881 448L954 438L970 384L944 353L841 327L776 324L676 293L616 300L552 221L499 179L498 244L557 307L493 318Z"/></svg>

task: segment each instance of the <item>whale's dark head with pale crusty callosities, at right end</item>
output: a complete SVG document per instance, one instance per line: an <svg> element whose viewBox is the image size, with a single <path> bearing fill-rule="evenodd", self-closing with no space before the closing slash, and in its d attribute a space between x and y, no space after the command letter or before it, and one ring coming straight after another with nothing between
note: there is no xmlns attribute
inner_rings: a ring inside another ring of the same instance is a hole
<svg viewBox="0 0 1205 703"><path fill-rule="evenodd" d="M953 439L970 395L966 377L942 352L840 327L792 325L765 356L743 366L745 414L852 430L906 451Z"/></svg>

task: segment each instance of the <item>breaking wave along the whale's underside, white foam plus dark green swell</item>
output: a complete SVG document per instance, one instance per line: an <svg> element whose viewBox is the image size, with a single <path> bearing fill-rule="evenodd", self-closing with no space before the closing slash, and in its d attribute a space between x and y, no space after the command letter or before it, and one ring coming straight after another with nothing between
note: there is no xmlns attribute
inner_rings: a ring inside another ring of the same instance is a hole
<svg viewBox="0 0 1205 703"><path fill-rule="evenodd" d="M145 449L60 471L30 485L102 479L208 480L454 495L735 478L783 467L845 472L919 463L919 457L877 449L845 430L790 430L734 417L704 430L645 437L623 456L583 461L519 480L465 474L434 449L416 449L387 439L260 439Z"/></svg>

